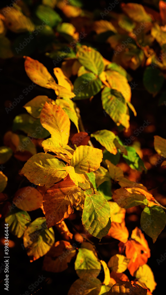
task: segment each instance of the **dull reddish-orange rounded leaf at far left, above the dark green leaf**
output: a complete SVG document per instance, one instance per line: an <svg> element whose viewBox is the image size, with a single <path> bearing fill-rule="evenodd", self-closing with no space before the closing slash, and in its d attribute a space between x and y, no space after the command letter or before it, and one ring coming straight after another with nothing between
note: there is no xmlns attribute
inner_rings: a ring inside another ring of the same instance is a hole
<svg viewBox="0 0 166 295"><path fill-rule="evenodd" d="M32 186L26 186L19 189L13 199L17 208L24 211L32 211L42 206L43 196Z"/></svg>

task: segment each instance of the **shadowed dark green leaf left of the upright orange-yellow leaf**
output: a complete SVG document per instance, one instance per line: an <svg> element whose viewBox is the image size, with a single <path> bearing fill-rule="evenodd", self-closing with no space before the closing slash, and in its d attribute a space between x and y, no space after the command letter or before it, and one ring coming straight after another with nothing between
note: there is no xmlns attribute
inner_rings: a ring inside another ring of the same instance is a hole
<svg viewBox="0 0 166 295"><path fill-rule="evenodd" d="M13 131L22 130L27 133L28 136L34 138L45 138L50 133L42 127L40 119L35 119L29 114L20 114L14 118Z"/></svg>

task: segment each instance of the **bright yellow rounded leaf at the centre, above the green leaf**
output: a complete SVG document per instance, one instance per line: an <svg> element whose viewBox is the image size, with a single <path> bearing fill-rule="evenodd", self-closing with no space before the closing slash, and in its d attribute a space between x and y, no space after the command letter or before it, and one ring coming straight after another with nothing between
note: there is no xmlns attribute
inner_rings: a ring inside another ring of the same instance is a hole
<svg viewBox="0 0 166 295"><path fill-rule="evenodd" d="M88 145L80 145L74 151L70 165L75 168L76 173L90 173L100 167L102 158L102 150Z"/></svg>

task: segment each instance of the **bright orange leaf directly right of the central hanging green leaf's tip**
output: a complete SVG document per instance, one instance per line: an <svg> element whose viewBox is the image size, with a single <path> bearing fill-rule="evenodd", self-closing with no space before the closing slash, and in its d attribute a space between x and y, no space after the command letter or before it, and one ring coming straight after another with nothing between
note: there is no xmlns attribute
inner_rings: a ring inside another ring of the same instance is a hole
<svg viewBox="0 0 166 295"><path fill-rule="evenodd" d="M129 237L129 232L124 221L122 223L111 222L111 228L107 235L126 243Z"/></svg>

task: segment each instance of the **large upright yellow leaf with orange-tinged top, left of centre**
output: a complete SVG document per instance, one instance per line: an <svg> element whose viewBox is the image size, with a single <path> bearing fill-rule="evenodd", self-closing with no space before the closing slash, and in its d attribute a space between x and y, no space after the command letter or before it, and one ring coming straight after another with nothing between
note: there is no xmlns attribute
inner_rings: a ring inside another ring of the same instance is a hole
<svg viewBox="0 0 166 295"><path fill-rule="evenodd" d="M70 119L60 106L46 102L40 114L40 122L51 135L56 137L60 147L68 143Z"/></svg>

